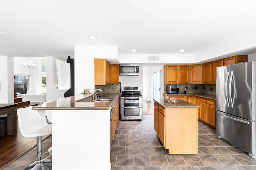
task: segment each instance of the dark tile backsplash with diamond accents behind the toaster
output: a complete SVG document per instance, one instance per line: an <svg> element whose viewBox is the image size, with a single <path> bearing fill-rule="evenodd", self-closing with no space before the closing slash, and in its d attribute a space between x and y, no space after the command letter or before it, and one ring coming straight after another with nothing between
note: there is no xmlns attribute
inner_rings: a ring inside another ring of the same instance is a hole
<svg viewBox="0 0 256 170"><path fill-rule="evenodd" d="M164 84L164 93L166 93L166 86L178 86L180 93L184 92L184 87L187 87L187 93L205 93L216 95L216 84Z"/></svg>

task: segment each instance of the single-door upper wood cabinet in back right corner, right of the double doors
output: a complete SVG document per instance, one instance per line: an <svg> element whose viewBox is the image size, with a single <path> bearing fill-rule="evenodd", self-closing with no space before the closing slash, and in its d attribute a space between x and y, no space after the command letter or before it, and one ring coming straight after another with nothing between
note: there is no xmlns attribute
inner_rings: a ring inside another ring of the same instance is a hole
<svg viewBox="0 0 256 170"><path fill-rule="evenodd" d="M190 66L190 83L202 84L203 83L203 64L193 64Z"/></svg>

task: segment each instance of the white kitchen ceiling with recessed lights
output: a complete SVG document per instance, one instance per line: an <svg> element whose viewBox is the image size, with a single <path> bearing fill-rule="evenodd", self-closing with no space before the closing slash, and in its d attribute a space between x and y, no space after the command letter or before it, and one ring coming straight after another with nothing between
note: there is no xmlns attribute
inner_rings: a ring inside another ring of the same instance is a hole
<svg viewBox="0 0 256 170"><path fill-rule="evenodd" d="M76 45L195 54L234 35L255 36L255 9L255 0L1 0L0 30L7 34L0 35L0 55L66 59ZM243 51L255 52L256 45Z"/></svg>

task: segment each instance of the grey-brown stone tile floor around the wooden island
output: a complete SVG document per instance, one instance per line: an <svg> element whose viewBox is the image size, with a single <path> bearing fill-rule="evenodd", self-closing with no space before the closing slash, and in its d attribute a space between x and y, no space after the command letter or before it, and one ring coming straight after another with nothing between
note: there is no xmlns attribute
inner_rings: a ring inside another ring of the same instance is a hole
<svg viewBox="0 0 256 170"><path fill-rule="evenodd" d="M198 121L198 154L169 155L154 131L154 115L118 122L111 147L112 170L255 170L256 159Z"/></svg>

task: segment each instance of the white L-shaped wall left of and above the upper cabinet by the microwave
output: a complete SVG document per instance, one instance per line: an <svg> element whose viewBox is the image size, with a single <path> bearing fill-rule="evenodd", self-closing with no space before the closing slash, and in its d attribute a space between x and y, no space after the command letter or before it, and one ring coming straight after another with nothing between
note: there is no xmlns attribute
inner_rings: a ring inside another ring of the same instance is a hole
<svg viewBox="0 0 256 170"><path fill-rule="evenodd" d="M75 94L94 92L94 58L118 59L118 47L75 46Z"/></svg>

